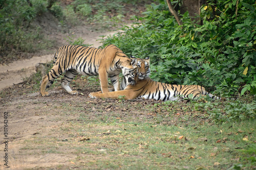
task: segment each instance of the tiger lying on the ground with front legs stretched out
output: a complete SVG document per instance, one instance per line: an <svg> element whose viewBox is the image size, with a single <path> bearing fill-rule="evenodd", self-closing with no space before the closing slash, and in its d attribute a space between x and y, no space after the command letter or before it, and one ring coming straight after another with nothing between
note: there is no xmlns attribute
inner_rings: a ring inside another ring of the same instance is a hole
<svg viewBox="0 0 256 170"><path fill-rule="evenodd" d="M208 95L211 99L219 99L217 96L212 95L207 92L204 87L199 85L172 85L166 83L160 83L152 80L150 77L145 76L142 77L139 75L140 72L148 72L146 69L149 67L145 67L145 65L149 65L150 59L138 59L140 61L140 67L138 67L138 71L134 77L137 82L135 85L123 84L126 87L121 91L113 91L107 93L98 93L93 92L90 93L91 98L107 98L107 99L118 99L119 96L124 96L123 99L155 99L162 101L176 101L182 100L185 98L189 98L190 95L193 95L193 99L197 99L199 96ZM125 82L122 82L125 83Z"/></svg>

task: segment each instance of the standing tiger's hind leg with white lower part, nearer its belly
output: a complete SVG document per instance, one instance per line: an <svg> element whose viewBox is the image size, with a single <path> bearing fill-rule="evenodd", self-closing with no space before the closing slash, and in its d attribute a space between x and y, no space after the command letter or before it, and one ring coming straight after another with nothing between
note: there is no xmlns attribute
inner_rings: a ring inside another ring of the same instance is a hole
<svg viewBox="0 0 256 170"><path fill-rule="evenodd" d="M70 94L78 94L78 91L72 90L69 86L70 82L76 77L78 72L75 69L66 71L64 78L61 79L61 86Z"/></svg>

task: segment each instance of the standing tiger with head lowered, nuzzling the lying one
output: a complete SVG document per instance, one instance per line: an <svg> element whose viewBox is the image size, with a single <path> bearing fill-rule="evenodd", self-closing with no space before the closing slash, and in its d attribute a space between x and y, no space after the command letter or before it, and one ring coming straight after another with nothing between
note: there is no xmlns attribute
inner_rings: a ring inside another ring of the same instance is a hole
<svg viewBox="0 0 256 170"><path fill-rule="evenodd" d="M114 90L120 90L119 73L122 71L127 84L134 84L134 74L137 70L137 59L131 60L115 45L105 48L84 47L80 45L64 45L58 48L54 56L54 65L49 73L42 78L40 93L42 96L49 95L46 88L53 84L63 72L65 76L61 79L61 86L70 94L78 94L73 91L69 84L75 76L99 75L101 92L109 92L108 77Z"/></svg>

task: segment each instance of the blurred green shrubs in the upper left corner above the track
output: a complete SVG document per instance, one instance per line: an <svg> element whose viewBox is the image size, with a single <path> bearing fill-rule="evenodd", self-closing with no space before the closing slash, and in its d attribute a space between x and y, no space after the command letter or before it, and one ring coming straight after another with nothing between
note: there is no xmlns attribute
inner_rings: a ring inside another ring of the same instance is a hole
<svg viewBox="0 0 256 170"><path fill-rule="evenodd" d="M40 28L30 25L31 21L46 12L47 1L31 0L32 7L27 1L7 0L0 8L0 62L10 56L16 57L19 52L33 53L39 50L44 40Z"/></svg>

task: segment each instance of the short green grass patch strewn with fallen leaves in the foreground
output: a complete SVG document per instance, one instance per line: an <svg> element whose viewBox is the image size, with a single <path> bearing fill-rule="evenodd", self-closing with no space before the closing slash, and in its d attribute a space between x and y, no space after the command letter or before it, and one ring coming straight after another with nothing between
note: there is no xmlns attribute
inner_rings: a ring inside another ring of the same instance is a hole
<svg viewBox="0 0 256 170"><path fill-rule="evenodd" d="M255 125L255 121L235 128L230 128L230 124L184 128L182 124L156 126L148 122L117 123L114 119L110 117L108 123L68 125L67 133L79 132L79 136L68 136L65 142L76 145L79 159L72 160L76 165L89 162L92 167L113 169L227 169L238 163L247 166L248 160L240 158L238 149L246 148L254 137L243 140L245 134L252 132L247 127ZM80 128L85 130L84 136L80 136ZM89 140L80 141L82 138ZM243 156L251 157L253 153Z"/></svg>

